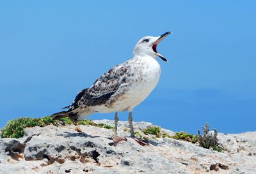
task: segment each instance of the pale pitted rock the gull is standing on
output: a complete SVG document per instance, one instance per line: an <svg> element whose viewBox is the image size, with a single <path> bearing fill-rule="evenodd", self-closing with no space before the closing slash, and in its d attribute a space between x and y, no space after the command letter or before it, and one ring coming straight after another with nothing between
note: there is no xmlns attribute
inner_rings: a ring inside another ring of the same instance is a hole
<svg viewBox="0 0 256 174"><path fill-rule="evenodd" d="M134 129L141 133L150 125L135 122ZM115 147L113 129L79 125L79 133L76 127L31 127L23 138L0 139L0 173L256 173L256 132L218 134L221 153L151 135L149 146L127 138ZM126 127L118 124L119 136L129 136Z"/></svg>

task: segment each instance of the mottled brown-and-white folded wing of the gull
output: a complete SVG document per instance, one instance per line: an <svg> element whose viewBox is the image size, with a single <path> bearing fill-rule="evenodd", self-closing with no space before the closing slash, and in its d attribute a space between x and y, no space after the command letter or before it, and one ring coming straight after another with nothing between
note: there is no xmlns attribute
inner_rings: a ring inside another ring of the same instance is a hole
<svg viewBox="0 0 256 174"><path fill-rule="evenodd" d="M118 87L126 82L127 73L129 73L129 66L125 66L125 64L109 69L90 88L84 89L77 94L76 99L70 106L70 110L78 107L86 108L86 106L105 104L115 94Z"/></svg>

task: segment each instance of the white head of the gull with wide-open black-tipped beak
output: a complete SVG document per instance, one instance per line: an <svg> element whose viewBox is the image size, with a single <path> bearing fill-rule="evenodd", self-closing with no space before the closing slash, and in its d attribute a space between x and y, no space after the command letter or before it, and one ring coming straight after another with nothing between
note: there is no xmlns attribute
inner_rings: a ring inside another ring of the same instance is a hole
<svg viewBox="0 0 256 174"><path fill-rule="evenodd" d="M161 36L153 37L153 36L145 36L144 38L141 38L140 41L136 44L134 47L133 55L134 56L145 56L149 55L153 58L156 58L159 56L163 61L167 61L163 57L163 55L159 54L157 52L157 44L160 43L161 40L163 40L168 34L171 34L170 32L166 32L162 34Z"/></svg>

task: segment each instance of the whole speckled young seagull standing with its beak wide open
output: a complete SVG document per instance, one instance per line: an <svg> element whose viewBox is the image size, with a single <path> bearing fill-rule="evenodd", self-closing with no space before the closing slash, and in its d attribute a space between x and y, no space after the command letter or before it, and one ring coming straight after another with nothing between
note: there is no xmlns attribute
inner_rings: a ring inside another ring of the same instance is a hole
<svg viewBox="0 0 256 174"><path fill-rule="evenodd" d="M156 87L161 74L161 67L156 61L160 57L157 45L171 32L161 36L145 36L141 38L133 51L133 58L109 69L98 78L91 87L80 91L71 105L63 109L67 111L54 113L54 119L69 117L75 122L93 113L115 113L115 133L113 142L116 145L125 137L117 136L118 112L129 112L129 127L131 138L140 145L148 145L136 138L132 124L132 110L138 106Z"/></svg>

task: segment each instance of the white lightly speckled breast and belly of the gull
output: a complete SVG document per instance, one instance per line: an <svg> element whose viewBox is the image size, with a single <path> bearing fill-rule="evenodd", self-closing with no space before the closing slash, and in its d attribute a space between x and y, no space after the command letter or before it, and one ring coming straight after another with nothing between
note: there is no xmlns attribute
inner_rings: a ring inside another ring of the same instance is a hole
<svg viewBox="0 0 256 174"><path fill-rule="evenodd" d="M159 63L152 57L138 57L130 63L134 75L131 76L131 83L122 89L125 93L115 101L113 107L93 106L93 110L101 113L131 111L153 91L161 74Z"/></svg>

